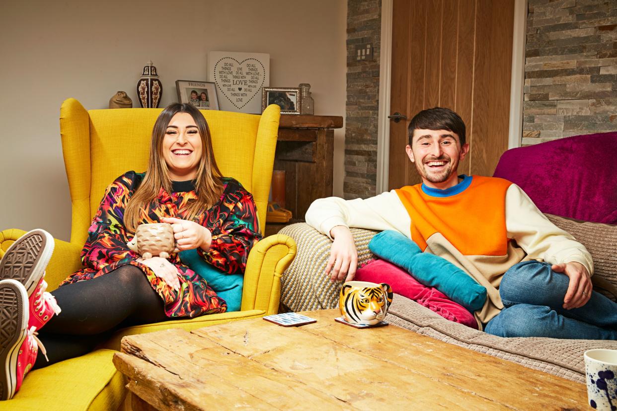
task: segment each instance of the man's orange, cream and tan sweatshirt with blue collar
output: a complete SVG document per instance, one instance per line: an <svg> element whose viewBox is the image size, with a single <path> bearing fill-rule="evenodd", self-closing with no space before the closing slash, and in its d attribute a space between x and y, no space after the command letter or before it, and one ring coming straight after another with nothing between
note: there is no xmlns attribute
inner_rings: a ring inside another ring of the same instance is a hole
<svg viewBox="0 0 617 411"><path fill-rule="evenodd" d="M587 249L550 222L518 185L495 177L459 177L461 182L445 190L416 184L365 200L315 200L306 221L328 237L335 226L401 232L486 287L487 301L474 313L484 324L503 309L499 284L518 262L576 261L593 274Z"/></svg>

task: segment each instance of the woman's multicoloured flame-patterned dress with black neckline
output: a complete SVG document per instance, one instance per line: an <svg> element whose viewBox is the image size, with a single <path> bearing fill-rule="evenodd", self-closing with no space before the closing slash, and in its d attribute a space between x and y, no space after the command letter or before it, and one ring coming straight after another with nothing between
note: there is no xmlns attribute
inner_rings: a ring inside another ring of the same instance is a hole
<svg viewBox="0 0 617 411"><path fill-rule="evenodd" d="M226 303L202 277L184 266L178 254L171 261L178 269L180 290L168 287L149 267L136 261L139 257L126 243L132 238L123 222L129 198L143 181L145 173L129 171L107 187L105 195L88 230L88 240L81 251L84 269L70 275L62 285L105 275L117 267L131 264L139 267L165 303L168 317L197 317L225 312ZM244 272L252 246L262 238L257 224L257 211L252 195L231 178L223 178L220 200L195 222L212 232L212 245L204 253L205 261L229 274ZM161 217L183 218L189 201L197 198L192 181L172 182L172 192L161 189L157 198L144 208L141 222L160 222Z"/></svg>

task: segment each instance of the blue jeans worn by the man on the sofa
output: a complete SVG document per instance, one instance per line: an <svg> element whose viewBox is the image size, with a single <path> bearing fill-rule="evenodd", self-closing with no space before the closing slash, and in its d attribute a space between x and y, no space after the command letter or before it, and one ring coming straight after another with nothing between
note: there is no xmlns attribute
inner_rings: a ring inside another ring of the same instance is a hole
<svg viewBox="0 0 617 411"><path fill-rule="evenodd" d="M617 340L617 304L593 291L587 304L566 310L568 283L567 275L546 262L515 264L499 286L503 310L484 330L502 337Z"/></svg>

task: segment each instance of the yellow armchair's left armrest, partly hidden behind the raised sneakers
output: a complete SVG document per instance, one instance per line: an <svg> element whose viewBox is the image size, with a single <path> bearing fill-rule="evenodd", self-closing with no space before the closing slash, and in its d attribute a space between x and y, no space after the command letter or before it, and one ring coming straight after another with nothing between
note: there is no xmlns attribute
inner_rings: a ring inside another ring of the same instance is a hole
<svg viewBox="0 0 617 411"><path fill-rule="evenodd" d="M0 258L17 238L26 234L19 229L8 229L0 232ZM46 269L45 280L48 283L48 291L55 290L60 282L81 269L81 245L67 243L54 238L54 253L49 260Z"/></svg>

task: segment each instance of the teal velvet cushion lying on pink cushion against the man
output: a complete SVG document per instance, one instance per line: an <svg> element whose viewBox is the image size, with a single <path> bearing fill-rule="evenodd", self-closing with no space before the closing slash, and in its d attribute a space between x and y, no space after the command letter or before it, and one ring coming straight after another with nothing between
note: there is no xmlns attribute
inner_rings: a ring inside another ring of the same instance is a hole
<svg viewBox="0 0 617 411"><path fill-rule="evenodd" d="M418 282L437 288L469 311L478 311L484 306L485 287L451 262L423 253L416 243L400 232L382 231L368 243L368 248L373 254L407 270Z"/></svg>

